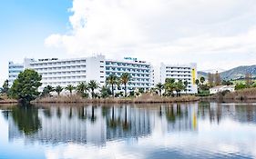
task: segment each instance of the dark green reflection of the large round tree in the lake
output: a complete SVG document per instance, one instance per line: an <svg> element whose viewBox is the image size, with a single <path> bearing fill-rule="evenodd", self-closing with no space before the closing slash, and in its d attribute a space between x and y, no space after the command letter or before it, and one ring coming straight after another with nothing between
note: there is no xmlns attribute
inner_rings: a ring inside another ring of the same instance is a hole
<svg viewBox="0 0 256 159"><path fill-rule="evenodd" d="M32 106L16 106L11 114L18 129L25 134L36 134L41 128L38 109Z"/></svg>

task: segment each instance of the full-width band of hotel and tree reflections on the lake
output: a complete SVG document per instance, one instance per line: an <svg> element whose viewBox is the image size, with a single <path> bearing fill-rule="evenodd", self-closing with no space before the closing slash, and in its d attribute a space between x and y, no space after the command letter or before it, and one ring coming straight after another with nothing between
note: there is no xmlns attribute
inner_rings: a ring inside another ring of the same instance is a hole
<svg viewBox="0 0 256 159"><path fill-rule="evenodd" d="M198 131L200 120L220 123L222 118L256 124L256 107L238 104L157 104L139 108L118 106L14 107L7 111L9 140L25 138L42 144L105 145L109 140L137 141L155 131ZM3 112L2 112L3 114Z"/></svg>

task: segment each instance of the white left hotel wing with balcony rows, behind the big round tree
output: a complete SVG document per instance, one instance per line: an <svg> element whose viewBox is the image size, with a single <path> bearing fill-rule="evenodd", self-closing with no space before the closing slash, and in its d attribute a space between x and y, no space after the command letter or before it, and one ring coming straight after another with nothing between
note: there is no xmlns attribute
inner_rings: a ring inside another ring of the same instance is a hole
<svg viewBox="0 0 256 159"><path fill-rule="evenodd" d="M92 64L91 58L74 58L74 59L39 59L31 62L29 68L32 68L42 75L42 91L46 85L56 87L67 86L68 84L77 85L81 82L87 82L93 75L88 72L88 64ZM95 76L97 72L95 72Z"/></svg>

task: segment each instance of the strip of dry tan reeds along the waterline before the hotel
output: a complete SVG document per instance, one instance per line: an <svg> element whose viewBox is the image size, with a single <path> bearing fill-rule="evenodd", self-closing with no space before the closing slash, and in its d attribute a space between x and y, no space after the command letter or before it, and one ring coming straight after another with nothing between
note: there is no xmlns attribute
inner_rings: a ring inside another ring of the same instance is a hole
<svg viewBox="0 0 256 159"><path fill-rule="evenodd" d="M175 103L175 102L195 102L200 98L193 95L180 97L160 97L159 95L142 94L136 98L105 98L105 99L86 99L78 95L54 96L37 98L32 104L50 103L85 103L85 104L153 104L153 103Z"/></svg>

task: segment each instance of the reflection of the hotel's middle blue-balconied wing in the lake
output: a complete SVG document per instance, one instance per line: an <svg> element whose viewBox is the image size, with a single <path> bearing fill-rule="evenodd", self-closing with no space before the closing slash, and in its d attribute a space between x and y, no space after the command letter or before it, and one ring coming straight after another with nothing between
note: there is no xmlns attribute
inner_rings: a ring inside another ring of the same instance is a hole
<svg viewBox="0 0 256 159"><path fill-rule="evenodd" d="M115 113L115 114L114 114ZM147 109L134 109L130 106L111 108L107 115L107 139L139 137L151 133L154 124L152 112Z"/></svg>

